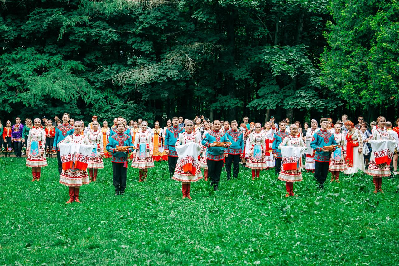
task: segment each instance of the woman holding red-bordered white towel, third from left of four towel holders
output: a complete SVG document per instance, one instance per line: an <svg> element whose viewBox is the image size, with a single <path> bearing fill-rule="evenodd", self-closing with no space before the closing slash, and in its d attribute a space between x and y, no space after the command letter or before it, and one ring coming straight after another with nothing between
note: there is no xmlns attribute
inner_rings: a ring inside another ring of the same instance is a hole
<svg viewBox="0 0 399 266"><path fill-rule="evenodd" d="M306 147L304 147L302 137L298 137L297 134L298 126L295 124L290 125L290 135L285 137L278 147L282 151L282 169L278 179L285 181L287 191L285 197L298 197L294 194L294 182L302 181L300 158L304 154Z"/></svg>

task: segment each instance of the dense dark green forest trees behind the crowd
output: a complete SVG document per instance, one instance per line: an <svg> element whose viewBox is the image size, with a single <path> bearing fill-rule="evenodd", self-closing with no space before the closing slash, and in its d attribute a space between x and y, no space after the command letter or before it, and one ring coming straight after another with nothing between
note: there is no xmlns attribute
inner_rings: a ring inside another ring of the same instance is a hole
<svg viewBox="0 0 399 266"><path fill-rule="evenodd" d="M0 4L3 121L399 115L396 0Z"/></svg>

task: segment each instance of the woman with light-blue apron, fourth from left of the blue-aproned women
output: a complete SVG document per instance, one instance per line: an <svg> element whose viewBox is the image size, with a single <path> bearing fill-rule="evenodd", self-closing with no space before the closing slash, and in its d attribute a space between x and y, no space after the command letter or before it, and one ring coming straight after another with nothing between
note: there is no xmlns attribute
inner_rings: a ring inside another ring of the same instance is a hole
<svg viewBox="0 0 399 266"><path fill-rule="evenodd" d="M267 168L265 139L265 135L261 133L261 124L256 123L255 131L249 135L249 157L245 165L252 169L252 179L255 179L255 174L259 178L261 170Z"/></svg>

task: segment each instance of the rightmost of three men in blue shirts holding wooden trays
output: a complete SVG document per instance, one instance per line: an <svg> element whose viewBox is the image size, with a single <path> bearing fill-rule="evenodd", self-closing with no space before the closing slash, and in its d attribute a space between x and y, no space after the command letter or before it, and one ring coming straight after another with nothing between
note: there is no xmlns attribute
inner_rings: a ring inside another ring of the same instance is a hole
<svg viewBox="0 0 399 266"><path fill-rule="evenodd" d="M319 183L319 188L323 189L324 182L327 179L328 168L330 167L331 151L323 148L324 146L338 145L334 135L327 131L328 120L323 117L320 119L321 129L313 135L310 147L315 150L314 153L314 178ZM334 148L334 150L336 147Z"/></svg>

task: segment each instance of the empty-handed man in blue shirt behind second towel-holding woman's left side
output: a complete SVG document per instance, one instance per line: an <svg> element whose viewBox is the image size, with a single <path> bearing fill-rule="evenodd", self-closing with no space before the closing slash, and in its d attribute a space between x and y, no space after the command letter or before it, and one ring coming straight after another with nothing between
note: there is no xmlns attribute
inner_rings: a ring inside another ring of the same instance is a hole
<svg viewBox="0 0 399 266"><path fill-rule="evenodd" d="M173 173L176 169L178 155L176 153L176 141L179 134L184 132L183 127L179 127L179 118L173 117L172 127L166 129L165 133L165 153L168 155L169 176L172 179Z"/></svg>

